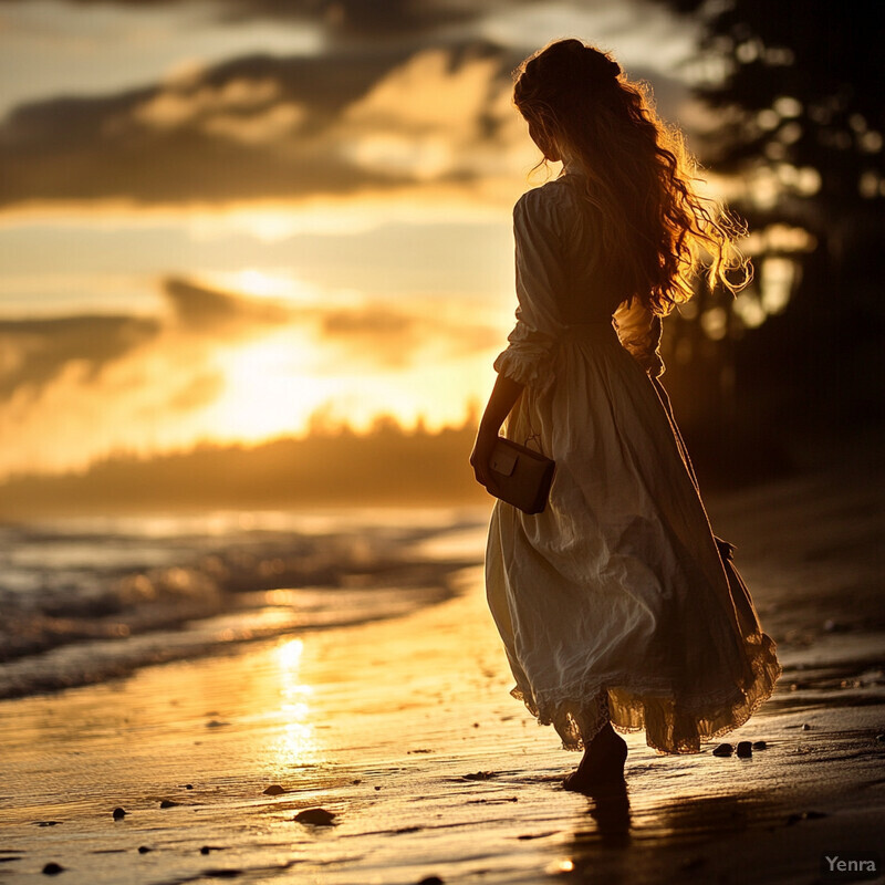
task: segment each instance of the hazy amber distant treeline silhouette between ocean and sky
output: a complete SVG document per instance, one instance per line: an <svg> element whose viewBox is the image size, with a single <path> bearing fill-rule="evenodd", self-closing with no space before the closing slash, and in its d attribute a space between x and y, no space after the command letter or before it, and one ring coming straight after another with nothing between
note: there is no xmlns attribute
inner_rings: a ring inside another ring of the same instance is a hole
<svg viewBox="0 0 885 885"><path fill-rule="evenodd" d="M116 455L85 472L0 485L0 519L188 509L481 503L467 462L476 427L431 433L382 419L258 446L200 445L149 459Z"/></svg>

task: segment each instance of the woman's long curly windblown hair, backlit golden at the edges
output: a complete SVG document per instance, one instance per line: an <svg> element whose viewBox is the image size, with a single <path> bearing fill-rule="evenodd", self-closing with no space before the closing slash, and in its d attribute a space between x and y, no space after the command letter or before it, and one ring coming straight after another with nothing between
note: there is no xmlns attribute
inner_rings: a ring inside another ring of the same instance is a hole
<svg viewBox="0 0 885 885"><path fill-rule="evenodd" d="M549 44L516 76L514 104L545 158L555 149L585 173L601 217L597 256L626 298L666 315L691 298L705 263L710 287L737 292L749 282L736 247L746 229L696 191L696 164L644 84L579 40Z"/></svg>

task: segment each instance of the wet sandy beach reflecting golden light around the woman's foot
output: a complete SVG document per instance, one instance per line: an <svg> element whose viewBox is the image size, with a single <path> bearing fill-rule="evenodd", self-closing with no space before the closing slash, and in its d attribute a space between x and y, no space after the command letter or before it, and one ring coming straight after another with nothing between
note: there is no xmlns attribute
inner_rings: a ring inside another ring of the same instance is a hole
<svg viewBox="0 0 885 885"><path fill-rule="evenodd" d="M878 500L829 473L710 503L785 670L726 739L752 758L631 735L625 794L563 791L477 565L404 617L0 704L0 883L826 882L822 854L883 851Z"/></svg>

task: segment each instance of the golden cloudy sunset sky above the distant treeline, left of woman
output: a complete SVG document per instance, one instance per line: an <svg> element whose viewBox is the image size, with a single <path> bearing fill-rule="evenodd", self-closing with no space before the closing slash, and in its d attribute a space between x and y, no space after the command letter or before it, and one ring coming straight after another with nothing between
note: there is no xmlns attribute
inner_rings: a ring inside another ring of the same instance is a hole
<svg viewBox="0 0 885 885"><path fill-rule="evenodd" d="M693 113L643 0L0 2L0 478L461 423L543 180L511 71L566 35Z"/></svg>

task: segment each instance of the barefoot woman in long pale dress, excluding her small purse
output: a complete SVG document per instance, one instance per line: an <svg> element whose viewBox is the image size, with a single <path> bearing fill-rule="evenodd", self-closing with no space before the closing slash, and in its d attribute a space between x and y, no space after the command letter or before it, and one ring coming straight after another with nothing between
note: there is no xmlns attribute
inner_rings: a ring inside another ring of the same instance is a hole
<svg viewBox="0 0 885 885"><path fill-rule="evenodd" d="M543 512L496 503L486 580L512 694L584 750L564 785L587 792L623 783L614 729L699 752L781 673L657 379L660 317L691 296L701 250L711 284L748 271L678 136L608 55L552 43L520 66L514 102L563 174L513 212L517 325L470 462L493 493L506 419L556 461Z"/></svg>

